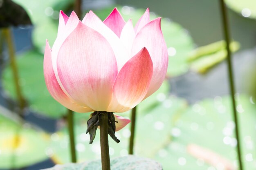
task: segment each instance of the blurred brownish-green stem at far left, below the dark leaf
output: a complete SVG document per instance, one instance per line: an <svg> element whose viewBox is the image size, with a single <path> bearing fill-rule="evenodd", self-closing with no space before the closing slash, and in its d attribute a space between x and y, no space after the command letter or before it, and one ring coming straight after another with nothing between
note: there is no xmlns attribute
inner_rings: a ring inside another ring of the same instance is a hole
<svg viewBox="0 0 256 170"><path fill-rule="evenodd" d="M11 29L5 28L2 31L3 31L2 33L4 35L4 38L7 42L10 64L11 64L11 69L12 69L13 78L14 78L15 90L16 90L16 94L18 97L18 103L20 106L19 115L20 115L20 117L23 118L24 117L23 109L25 108L25 99L22 96L21 88L19 85L18 67L17 67L17 63L16 63L15 49L14 49L14 45L13 45L13 41L12 41L13 38L11 35Z"/></svg>

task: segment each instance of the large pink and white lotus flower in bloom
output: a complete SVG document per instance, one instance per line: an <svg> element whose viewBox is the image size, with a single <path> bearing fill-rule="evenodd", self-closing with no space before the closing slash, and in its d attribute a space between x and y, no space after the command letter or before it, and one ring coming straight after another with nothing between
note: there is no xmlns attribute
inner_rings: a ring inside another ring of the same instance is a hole
<svg viewBox="0 0 256 170"><path fill-rule="evenodd" d="M103 22L92 11L82 21L74 11L70 17L61 11L52 50L47 41L45 47L48 91L79 113L135 107L157 91L166 75L168 54L160 23L161 18L149 20L149 9L135 28L116 8Z"/></svg>

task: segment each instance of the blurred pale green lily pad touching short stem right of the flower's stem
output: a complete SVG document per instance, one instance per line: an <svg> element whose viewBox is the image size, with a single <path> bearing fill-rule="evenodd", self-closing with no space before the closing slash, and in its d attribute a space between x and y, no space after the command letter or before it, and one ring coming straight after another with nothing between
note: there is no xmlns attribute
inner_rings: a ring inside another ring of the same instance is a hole
<svg viewBox="0 0 256 170"><path fill-rule="evenodd" d="M169 139L175 120L186 109L186 100L173 96L166 97L151 110L141 110L138 105L135 153L153 158L159 147Z"/></svg>

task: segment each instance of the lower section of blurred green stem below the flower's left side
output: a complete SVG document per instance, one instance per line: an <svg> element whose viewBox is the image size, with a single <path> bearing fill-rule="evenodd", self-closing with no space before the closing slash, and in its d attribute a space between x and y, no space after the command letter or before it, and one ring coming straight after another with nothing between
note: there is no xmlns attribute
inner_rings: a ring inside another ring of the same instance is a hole
<svg viewBox="0 0 256 170"><path fill-rule="evenodd" d="M67 121L68 121L68 131L70 136L70 151L71 151L71 161L76 162L76 148L74 139L74 121L73 121L73 111L67 110Z"/></svg>

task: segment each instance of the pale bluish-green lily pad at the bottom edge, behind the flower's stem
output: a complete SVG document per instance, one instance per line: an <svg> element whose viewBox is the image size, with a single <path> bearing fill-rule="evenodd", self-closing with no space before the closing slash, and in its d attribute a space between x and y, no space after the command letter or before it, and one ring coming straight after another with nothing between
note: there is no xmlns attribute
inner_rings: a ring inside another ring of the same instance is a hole
<svg viewBox="0 0 256 170"><path fill-rule="evenodd" d="M120 170L120 168L126 170L162 170L162 166L156 161L133 155L112 159L110 166L112 170ZM45 170L101 170L101 160L84 163L67 163Z"/></svg>

